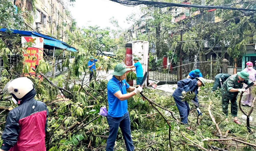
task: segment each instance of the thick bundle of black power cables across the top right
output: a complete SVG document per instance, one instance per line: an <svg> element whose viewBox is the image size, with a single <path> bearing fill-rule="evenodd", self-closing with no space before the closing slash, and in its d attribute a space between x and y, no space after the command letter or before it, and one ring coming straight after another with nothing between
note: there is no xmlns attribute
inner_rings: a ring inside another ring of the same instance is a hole
<svg viewBox="0 0 256 151"><path fill-rule="evenodd" d="M229 10L242 10L242 11L256 11L256 9L244 9L244 8L232 8L225 6L206 6L206 5L192 5L192 4L178 4L178 3L166 3L166 2L153 2L153 1L142 1L142 0L110 0L125 6L137 6L137 5L148 5L152 7L195 7L195 8L212 8L212 9L229 9Z"/></svg>

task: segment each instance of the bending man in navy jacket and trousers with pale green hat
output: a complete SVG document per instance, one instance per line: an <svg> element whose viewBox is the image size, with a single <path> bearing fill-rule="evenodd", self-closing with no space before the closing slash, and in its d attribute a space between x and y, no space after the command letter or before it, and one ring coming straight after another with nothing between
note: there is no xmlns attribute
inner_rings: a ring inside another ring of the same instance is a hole
<svg viewBox="0 0 256 151"><path fill-rule="evenodd" d="M178 87L173 92L172 96L173 96L174 101L178 107L180 118L182 118L181 122L186 124L186 123L188 123L188 114L189 114L190 108L189 108L187 101L183 100L181 98L181 96L183 93L185 94L188 91L190 91L191 93L194 92L195 98L193 100L198 103L198 100L197 100L198 90L197 89L200 86L205 86L205 79L203 77L196 77L193 80L187 78L187 79L178 81L177 85L178 85ZM197 109L198 115L199 114L202 115L199 107L197 107L196 109Z"/></svg>

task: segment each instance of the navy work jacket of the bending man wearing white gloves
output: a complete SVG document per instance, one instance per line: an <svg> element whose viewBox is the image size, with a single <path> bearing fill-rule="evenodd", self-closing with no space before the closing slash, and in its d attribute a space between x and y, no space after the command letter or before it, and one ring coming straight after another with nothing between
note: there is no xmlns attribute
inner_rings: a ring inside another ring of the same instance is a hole
<svg viewBox="0 0 256 151"><path fill-rule="evenodd" d="M195 102L198 103L197 100L197 94L198 94L198 86L197 86L197 80L196 79L183 79L178 81L177 83L178 87L176 88L176 90L173 92L173 97L177 100L182 100L182 98L180 98L180 96L182 96L182 91L188 92L190 91L191 93L194 92L195 93L195 98L193 99Z"/></svg>

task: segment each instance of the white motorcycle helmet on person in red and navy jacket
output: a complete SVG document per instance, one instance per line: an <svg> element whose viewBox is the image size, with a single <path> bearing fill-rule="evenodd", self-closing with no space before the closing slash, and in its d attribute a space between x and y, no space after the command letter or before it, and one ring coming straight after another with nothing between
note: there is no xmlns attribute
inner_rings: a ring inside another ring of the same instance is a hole
<svg viewBox="0 0 256 151"><path fill-rule="evenodd" d="M28 92L35 88L33 82L26 77L10 80L4 87L3 93L13 94L16 98L23 98Z"/></svg>

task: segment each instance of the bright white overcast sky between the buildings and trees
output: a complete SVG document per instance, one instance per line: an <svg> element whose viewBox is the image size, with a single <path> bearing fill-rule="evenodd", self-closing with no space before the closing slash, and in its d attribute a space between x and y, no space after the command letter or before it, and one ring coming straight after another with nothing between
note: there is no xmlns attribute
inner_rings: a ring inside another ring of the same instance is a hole
<svg viewBox="0 0 256 151"><path fill-rule="evenodd" d="M72 16L76 19L79 27L98 25L101 28L110 27L117 29L110 23L110 18L118 20L123 29L132 25L127 23L126 18L133 12L139 14L139 6L124 6L109 0L76 0L74 7L69 6Z"/></svg>

